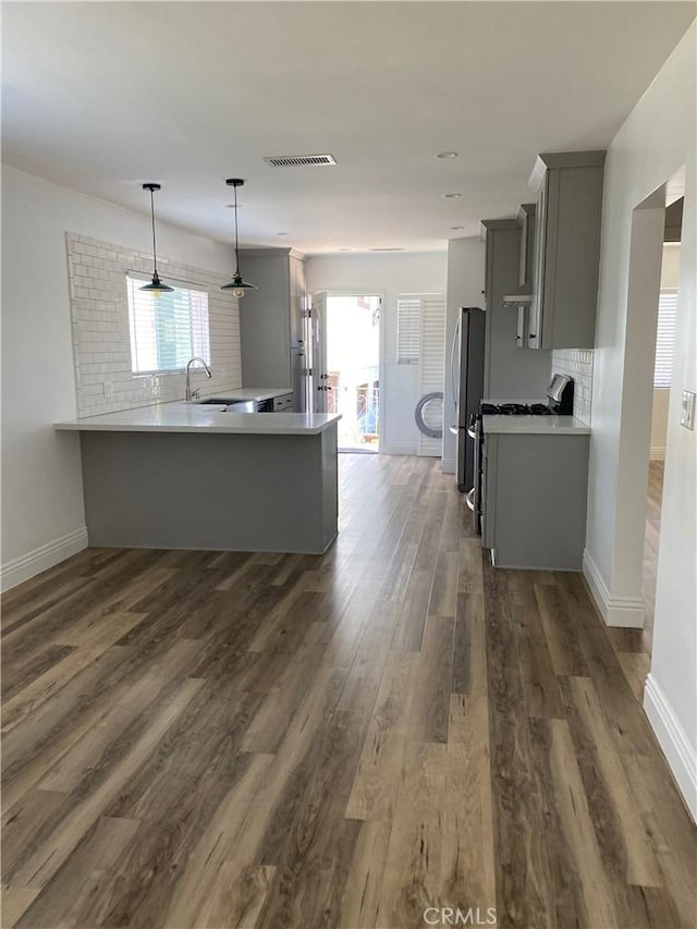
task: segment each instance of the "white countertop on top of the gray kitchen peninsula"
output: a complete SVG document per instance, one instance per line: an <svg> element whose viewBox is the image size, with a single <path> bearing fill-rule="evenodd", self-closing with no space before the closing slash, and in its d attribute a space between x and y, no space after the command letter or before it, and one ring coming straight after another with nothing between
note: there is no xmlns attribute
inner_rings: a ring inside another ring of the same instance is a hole
<svg viewBox="0 0 697 929"><path fill-rule="evenodd" d="M281 391L288 393L289 391ZM237 391L225 391L232 396ZM269 394L266 393L266 398ZM255 394L261 396L260 394ZM266 399L261 396L261 399ZM242 400L243 398L239 398ZM247 398L249 399L249 398ZM243 436L317 436L341 419L337 413L227 413L223 406L197 403L158 403L120 413L86 416L54 423L56 429L73 432L197 432Z"/></svg>

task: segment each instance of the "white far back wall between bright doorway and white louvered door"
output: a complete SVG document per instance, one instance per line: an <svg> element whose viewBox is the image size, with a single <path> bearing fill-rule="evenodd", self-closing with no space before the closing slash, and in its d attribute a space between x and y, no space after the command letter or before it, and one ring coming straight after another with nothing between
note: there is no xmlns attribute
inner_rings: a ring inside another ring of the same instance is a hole
<svg viewBox="0 0 697 929"><path fill-rule="evenodd" d="M402 293L445 293L445 252L391 255L316 255L308 258L308 293L381 294L384 371L380 450L388 454L417 453L419 431L414 423L418 400L416 365L396 364L396 298Z"/></svg>

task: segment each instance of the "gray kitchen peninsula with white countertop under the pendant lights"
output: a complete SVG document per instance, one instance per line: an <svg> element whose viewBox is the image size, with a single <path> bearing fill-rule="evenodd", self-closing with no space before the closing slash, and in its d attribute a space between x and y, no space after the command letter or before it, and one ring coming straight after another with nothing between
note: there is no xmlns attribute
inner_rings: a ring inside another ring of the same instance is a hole
<svg viewBox="0 0 697 929"><path fill-rule="evenodd" d="M162 403L54 428L80 432L91 546L320 554L340 418Z"/></svg>

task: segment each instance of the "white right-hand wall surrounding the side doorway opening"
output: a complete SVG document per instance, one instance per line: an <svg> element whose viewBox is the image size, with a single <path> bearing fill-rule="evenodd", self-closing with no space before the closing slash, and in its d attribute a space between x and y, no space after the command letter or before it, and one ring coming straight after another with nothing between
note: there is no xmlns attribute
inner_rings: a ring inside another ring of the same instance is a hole
<svg viewBox="0 0 697 929"><path fill-rule="evenodd" d="M697 389L696 38L693 24L613 139L606 161L585 559L601 611L610 619L616 611L621 618L628 603L632 612L640 597L633 558L635 524L644 519L650 407L649 403L637 410L631 389L637 359L628 346L637 345L635 330L641 322L628 313L633 211L685 166L676 357L645 707L693 814L697 810L697 442L694 431L680 426L680 396L685 389Z"/></svg>

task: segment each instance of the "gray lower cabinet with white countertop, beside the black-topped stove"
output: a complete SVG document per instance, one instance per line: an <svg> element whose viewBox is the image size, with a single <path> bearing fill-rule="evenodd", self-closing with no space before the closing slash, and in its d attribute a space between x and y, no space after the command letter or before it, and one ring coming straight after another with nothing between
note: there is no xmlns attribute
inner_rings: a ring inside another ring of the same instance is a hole
<svg viewBox="0 0 697 929"><path fill-rule="evenodd" d="M497 567L580 571L590 437L487 435L481 543Z"/></svg>

